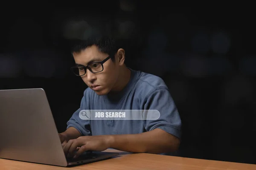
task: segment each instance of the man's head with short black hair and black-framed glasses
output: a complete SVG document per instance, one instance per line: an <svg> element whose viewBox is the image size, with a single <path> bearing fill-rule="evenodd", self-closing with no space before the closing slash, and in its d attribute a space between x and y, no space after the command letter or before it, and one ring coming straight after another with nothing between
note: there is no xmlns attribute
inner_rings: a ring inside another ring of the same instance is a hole
<svg viewBox="0 0 256 170"><path fill-rule="evenodd" d="M125 51L117 46L115 39L98 37L80 41L72 54L76 62L72 70L82 75L89 88L98 95L108 94L115 88L125 60Z"/></svg>

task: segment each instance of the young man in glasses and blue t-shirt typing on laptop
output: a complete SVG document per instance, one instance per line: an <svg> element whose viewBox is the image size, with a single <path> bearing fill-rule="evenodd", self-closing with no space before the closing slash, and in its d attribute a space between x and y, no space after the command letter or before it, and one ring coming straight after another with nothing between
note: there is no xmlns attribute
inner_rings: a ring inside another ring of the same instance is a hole
<svg viewBox="0 0 256 170"><path fill-rule="evenodd" d="M88 88L80 108L59 133L64 152L78 157L108 148L132 153L167 153L178 149L181 120L160 77L124 64L125 50L111 37L86 40L73 49L73 72ZM152 68L154 69L154 68ZM84 120L82 110L157 110L156 120Z"/></svg>

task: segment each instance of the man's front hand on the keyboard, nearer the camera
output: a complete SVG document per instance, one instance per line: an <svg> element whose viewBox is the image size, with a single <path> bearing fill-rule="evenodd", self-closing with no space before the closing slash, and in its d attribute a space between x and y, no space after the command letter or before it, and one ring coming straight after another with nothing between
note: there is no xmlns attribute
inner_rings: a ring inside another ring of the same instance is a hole
<svg viewBox="0 0 256 170"><path fill-rule="evenodd" d="M71 139L64 144L63 150L65 155L73 155L76 151L74 158L77 158L81 153L93 150L93 151L103 151L110 147L111 136L81 136L77 139Z"/></svg>

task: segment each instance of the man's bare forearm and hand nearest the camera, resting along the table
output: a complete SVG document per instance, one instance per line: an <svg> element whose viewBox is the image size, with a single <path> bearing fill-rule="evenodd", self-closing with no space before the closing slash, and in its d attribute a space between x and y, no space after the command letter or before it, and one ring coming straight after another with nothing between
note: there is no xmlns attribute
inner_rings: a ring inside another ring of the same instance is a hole
<svg viewBox="0 0 256 170"><path fill-rule="evenodd" d="M180 139L157 128L139 134L81 136L69 140L63 150L66 155L73 155L73 152L79 147L76 157L87 150L103 151L108 148L131 153L159 154L174 152L179 145Z"/></svg>

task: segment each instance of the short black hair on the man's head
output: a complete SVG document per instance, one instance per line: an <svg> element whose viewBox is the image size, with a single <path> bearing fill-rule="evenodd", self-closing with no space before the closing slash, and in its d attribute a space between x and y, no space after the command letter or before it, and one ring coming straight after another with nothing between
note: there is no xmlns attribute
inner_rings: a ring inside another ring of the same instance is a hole
<svg viewBox="0 0 256 170"><path fill-rule="evenodd" d="M102 53L108 54L111 56L111 60L115 61L115 54L118 51L119 43L118 40L111 36L102 36L102 37L90 37L86 40L76 40L73 43L73 47L71 49L72 53L79 53L82 50L90 47L92 45L96 45L98 50Z"/></svg>

